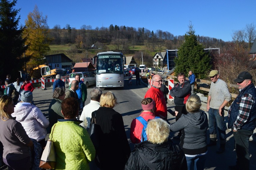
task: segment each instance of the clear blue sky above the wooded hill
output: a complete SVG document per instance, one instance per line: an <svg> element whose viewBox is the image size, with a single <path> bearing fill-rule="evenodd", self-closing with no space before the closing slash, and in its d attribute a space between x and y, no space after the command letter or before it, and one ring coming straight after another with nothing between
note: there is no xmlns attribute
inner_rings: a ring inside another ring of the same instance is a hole
<svg viewBox="0 0 256 170"><path fill-rule="evenodd" d="M233 31L256 25L255 0L17 0L20 24L25 24L35 5L48 16L50 28L69 24L76 29L81 25L95 29L113 24L178 36L186 33L191 21L196 34L231 41Z"/></svg>

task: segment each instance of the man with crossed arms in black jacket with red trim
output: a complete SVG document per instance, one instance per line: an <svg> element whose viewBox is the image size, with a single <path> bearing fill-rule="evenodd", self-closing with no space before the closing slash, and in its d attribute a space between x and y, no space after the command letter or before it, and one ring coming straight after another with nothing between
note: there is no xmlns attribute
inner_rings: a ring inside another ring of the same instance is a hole
<svg viewBox="0 0 256 170"><path fill-rule="evenodd" d="M170 90L170 95L174 97L176 121L178 121L182 114L187 114L186 103L188 97L191 95L191 85L189 80L186 80L185 74L179 73L177 78L179 82ZM181 134L180 130L178 135L174 136L173 139L179 140Z"/></svg>

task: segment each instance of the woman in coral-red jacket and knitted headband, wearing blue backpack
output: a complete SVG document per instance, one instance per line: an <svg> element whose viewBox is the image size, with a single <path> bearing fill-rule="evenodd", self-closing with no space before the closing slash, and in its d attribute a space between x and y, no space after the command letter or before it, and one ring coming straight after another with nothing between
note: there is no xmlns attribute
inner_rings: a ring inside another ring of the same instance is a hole
<svg viewBox="0 0 256 170"><path fill-rule="evenodd" d="M139 117L142 117L146 122L148 122L149 119L154 119L156 117L154 114L155 101L152 98L147 97L143 99L141 106L143 111ZM144 140L142 139L142 129L144 126L138 118L133 119L131 123L130 139L134 144L140 143Z"/></svg>

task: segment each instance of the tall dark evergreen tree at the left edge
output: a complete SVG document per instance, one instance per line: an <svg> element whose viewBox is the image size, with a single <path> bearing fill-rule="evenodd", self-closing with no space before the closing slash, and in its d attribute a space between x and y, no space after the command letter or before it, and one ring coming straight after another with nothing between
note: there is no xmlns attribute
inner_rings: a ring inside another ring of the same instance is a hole
<svg viewBox="0 0 256 170"><path fill-rule="evenodd" d="M17 14L20 9L14 9L16 3L17 0L0 1L0 78L6 79L6 75L11 74L11 82L20 77L19 71L29 60L24 58L27 46L24 47L23 29L18 28L20 16L17 17Z"/></svg>

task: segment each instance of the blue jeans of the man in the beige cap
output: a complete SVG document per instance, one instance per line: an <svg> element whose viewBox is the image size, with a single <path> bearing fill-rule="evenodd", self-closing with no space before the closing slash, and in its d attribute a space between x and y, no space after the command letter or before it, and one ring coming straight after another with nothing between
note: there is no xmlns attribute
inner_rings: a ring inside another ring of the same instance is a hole
<svg viewBox="0 0 256 170"><path fill-rule="evenodd" d="M221 141L226 141L226 124L224 122L224 113L221 116L219 109L210 108L208 111L209 115L209 133L210 135L217 134L216 123L219 131L219 137Z"/></svg>

